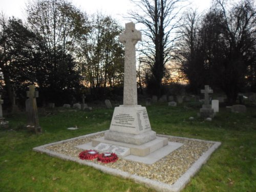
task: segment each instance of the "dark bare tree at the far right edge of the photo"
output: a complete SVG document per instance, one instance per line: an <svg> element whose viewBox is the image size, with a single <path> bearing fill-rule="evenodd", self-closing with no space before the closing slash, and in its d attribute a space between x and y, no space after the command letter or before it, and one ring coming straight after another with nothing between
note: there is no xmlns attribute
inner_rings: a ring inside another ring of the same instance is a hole
<svg viewBox="0 0 256 192"><path fill-rule="evenodd" d="M256 9L253 0L243 0L227 9L225 1L216 0L223 14L221 47L224 54L221 86L230 103L236 102L238 92L246 84L248 68L254 66L256 48Z"/></svg>

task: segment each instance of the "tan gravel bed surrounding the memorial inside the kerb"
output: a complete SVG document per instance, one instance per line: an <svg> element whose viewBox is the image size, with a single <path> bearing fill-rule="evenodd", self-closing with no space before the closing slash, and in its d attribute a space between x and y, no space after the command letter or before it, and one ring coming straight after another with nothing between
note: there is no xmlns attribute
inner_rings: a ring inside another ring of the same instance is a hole
<svg viewBox="0 0 256 192"><path fill-rule="evenodd" d="M82 151L75 146L88 143L91 140L102 137L104 133L99 133L93 136L78 137L63 142L53 143L45 146L45 150L66 155L72 158L78 158L78 154ZM163 137L164 135L160 135ZM215 144L212 141L188 139L181 137L167 137L171 142L184 143L183 146L160 159L152 165L124 160L119 158L115 163L100 163L96 159L90 161L95 164L100 164L106 167L121 170L135 176L141 176L146 179L151 179L165 183L168 185L174 184L191 165L193 165L209 148ZM89 160L84 160L89 161Z"/></svg>

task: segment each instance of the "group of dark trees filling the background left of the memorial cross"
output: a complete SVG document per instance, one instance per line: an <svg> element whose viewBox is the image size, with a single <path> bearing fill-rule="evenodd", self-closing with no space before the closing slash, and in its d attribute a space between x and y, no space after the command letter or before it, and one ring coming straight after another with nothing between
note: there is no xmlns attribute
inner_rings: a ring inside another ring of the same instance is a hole
<svg viewBox="0 0 256 192"><path fill-rule="evenodd" d="M2 14L2 94L12 104L14 90L25 99L27 86L35 84L41 103L60 105L78 99L84 87L97 95L95 90L119 86L123 78L120 31L111 17L87 15L68 1L29 2L26 24Z"/></svg>

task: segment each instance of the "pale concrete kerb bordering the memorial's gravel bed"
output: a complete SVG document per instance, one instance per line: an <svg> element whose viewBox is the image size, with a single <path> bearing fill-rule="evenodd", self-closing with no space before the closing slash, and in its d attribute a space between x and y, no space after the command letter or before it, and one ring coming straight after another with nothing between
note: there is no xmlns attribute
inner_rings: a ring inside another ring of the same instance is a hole
<svg viewBox="0 0 256 192"><path fill-rule="evenodd" d="M108 131L108 130L106 130L106 131ZM132 179L136 183L144 184L145 186L154 188L158 191L178 192L178 191L181 191L186 186L186 184L190 181L191 177L193 177L199 171L201 166L203 164L205 164L206 161L209 159L210 155L221 145L221 142L207 141L207 142L212 142L214 144L193 165L191 165L191 167L189 169L187 169L187 171L172 185L162 183L162 182L159 182L159 181L155 181L155 180L152 180L152 179L147 179L147 178L137 176L137 175L132 175L132 174L129 174L127 172L123 172L121 170L117 170L117 169L114 169L114 168L99 165L99 164L96 164L96 163L93 163L93 162L90 162L90 161L84 161L84 160L80 160L80 159L70 157L70 156L67 156L67 155L63 155L63 154L59 154L59 153L52 152L52 151L49 151L49 150L45 150L45 147L50 146L50 145L59 144L59 143L62 143L62 142L67 142L67 141L80 139L80 138L85 138L85 137L91 137L91 136L94 136L94 135L105 133L106 131L97 132L97 133L88 134L88 135L83 135L83 136L75 137L75 138L72 138L72 139L67 139L67 140L62 140L62 141L58 141L58 142L54 142L54 143L41 145L41 146L38 146L38 147L34 147L33 151L46 153L50 156L58 157L58 158L63 159L63 160L75 161L79 164L92 166L96 169L101 170L104 173L115 175L115 176L120 176L120 177L123 177L125 179ZM201 139L191 139L191 138L175 137L175 136L168 136L168 135L161 135L161 134L157 134L157 136L170 137L170 138L181 138L181 139L188 139L188 140L195 140L195 141L206 141L206 140L201 140Z"/></svg>

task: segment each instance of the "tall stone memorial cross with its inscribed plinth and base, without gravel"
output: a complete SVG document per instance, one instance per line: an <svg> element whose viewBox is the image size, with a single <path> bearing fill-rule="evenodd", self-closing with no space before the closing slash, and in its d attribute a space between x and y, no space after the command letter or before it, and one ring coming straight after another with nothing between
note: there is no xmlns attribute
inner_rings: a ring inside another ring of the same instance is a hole
<svg viewBox="0 0 256 192"><path fill-rule="evenodd" d="M141 32L135 29L134 23L127 23L119 40L125 47L123 105L115 108L110 130L105 132L103 138L93 140L92 146L99 143L118 142L121 146L130 148L132 145L146 144L147 147L139 153L145 156L151 153L148 146L154 146L154 150L157 150L167 145L168 140L157 139L156 132L151 129L146 108L138 105L135 45L138 40L141 40ZM138 150L134 151L138 152Z"/></svg>

